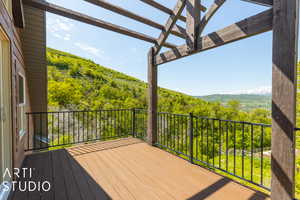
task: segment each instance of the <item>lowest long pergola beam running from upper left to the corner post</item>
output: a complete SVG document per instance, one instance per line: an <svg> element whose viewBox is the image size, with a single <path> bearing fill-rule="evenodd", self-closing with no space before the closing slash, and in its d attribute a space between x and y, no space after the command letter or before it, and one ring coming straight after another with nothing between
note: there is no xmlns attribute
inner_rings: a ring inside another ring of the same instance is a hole
<svg viewBox="0 0 300 200"><path fill-rule="evenodd" d="M52 4L52 3L48 3L48 2L43 1L43 0L23 0L23 3L26 4L26 5L44 10L44 11L48 11L48 12L51 12L51 13L54 13L54 14L57 14L57 15L61 15L61 16L64 16L64 17L67 17L67 18L70 18L70 19L77 20L77 21L80 21L80 22L83 22L83 23L86 23L86 24L90 24L90 25L97 26L97 27L100 27L100 28L104 28L104 29L107 29L107 30L110 30L110 31L113 31L113 32L116 32L116 33L127 35L129 37L133 37L133 38L136 38L136 39L139 39L139 40L143 40L143 41L146 41L146 42L157 44L156 39L151 37L151 36L148 36L148 35L145 35L145 34L142 34L142 33L127 29L127 28L124 28L122 26L114 25L114 24L111 24L109 22L105 22L103 20L90 17L90 16L82 14L80 12L76 12L76 11L73 11L73 10L70 10L70 9L66 9L64 7L61 7L61 6ZM175 48L176 47L176 45L173 45L173 44L170 44L170 43L164 43L163 45L165 47L168 47L168 48Z"/></svg>

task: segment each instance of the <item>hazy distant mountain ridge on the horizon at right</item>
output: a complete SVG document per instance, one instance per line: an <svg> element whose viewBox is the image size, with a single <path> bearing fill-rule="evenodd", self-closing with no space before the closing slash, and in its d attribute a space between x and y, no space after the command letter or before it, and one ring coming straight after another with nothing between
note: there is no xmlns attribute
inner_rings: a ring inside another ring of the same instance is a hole
<svg viewBox="0 0 300 200"><path fill-rule="evenodd" d="M230 100L236 100L241 103L244 111L255 108L271 110L271 94L213 94L207 96L198 96L198 98L209 102L221 102L226 106Z"/></svg>

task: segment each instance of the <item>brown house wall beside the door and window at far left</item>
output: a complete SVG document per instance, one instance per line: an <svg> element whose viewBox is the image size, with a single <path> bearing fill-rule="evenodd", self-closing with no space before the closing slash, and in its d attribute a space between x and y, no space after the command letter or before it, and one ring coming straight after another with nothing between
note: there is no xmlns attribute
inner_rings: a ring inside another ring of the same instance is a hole
<svg viewBox="0 0 300 200"><path fill-rule="evenodd" d="M20 167L22 161L24 159L24 144L26 137L19 136L19 127L18 127L18 88L17 88L17 74L19 72L25 71L25 63L24 57L22 53L21 40L20 40L20 30L15 28L12 19L12 13L10 6L11 0L5 0L6 4L4 4L3 0L0 0L0 26L3 29L6 36L10 41L10 71L11 71L11 124L12 124L12 164L13 167ZM27 87L27 83L25 84ZM27 88L26 88L27 90ZM26 95L28 98L28 95ZM29 99L27 99L27 103L24 105L24 110L30 111L29 107Z"/></svg>

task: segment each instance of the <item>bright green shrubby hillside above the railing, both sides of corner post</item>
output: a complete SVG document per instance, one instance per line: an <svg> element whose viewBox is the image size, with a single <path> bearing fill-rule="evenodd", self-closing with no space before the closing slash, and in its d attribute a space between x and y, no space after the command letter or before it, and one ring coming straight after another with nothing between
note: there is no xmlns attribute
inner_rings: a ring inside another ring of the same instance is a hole
<svg viewBox="0 0 300 200"><path fill-rule="evenodd" d="M78 56L47 49L48 101L52 110L146 108L147 84ZM199 116L270 123L269 112L240 111L237 101L226 107L179 92L159 88L159 110L193 112Z"/></svg>

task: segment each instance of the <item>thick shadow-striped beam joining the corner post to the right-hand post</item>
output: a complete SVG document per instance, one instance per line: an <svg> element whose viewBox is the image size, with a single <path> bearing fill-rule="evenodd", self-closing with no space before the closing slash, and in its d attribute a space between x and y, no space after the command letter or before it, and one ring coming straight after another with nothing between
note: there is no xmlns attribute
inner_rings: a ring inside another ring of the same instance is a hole
<svg viewBox="0 0 300 200"><path fill-rule="evenodd" d="M269 9L199 38L198 49L195 51L190 52L187 45L182 45L155 56L154 63L156 65L164 64L182 57L270 31L272 30L272 20L273 11L272 9Z"/></svg>

